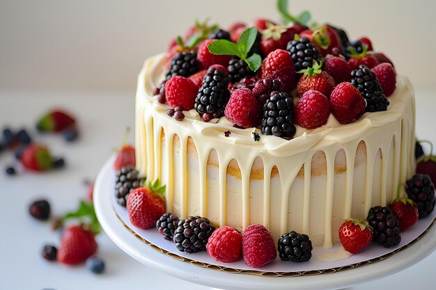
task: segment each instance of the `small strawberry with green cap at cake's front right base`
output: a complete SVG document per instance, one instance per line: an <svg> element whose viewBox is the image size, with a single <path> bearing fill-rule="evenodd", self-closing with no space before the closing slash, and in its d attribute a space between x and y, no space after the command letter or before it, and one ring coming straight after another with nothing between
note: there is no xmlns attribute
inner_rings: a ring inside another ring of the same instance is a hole
<svg viewBox="0 0 436 290"><path fill-rule="evenodd" d="M343 248L352 254L364 250L373 239L373 228L364 218L348 218L339 228Z"/></svg>

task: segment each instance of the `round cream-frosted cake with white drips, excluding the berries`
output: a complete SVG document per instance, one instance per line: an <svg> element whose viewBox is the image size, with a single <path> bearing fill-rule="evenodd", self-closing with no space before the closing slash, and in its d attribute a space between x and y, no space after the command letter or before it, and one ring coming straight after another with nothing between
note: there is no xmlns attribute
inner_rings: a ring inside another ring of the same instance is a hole
<svg viewBox="0 0 436 290"><path fill-rule="evenodd" d="M331 114L317 129L296 126L291 140L238 129L225 116L203 122L194 109L177 121L152 95L163 79L164 54L148 58L137 88L137 167L166 184L166 210L179 218L241 231L261 224L276 241L295 230L330 248L345 218L388 204L413 174L414 94L403 76L387 111L350 124Z"/></svg>

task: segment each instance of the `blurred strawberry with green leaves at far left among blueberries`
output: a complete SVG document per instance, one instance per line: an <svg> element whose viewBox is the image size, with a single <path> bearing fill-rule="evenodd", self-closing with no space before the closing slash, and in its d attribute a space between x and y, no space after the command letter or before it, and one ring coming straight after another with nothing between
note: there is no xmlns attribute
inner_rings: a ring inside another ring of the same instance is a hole
<svg viewBox="0 0 436 290"><path fill-rule="evenodd" d="M45 171L52 168L52 154L44 145L31 143L20 154L22 165L31 170Z"/></svg>

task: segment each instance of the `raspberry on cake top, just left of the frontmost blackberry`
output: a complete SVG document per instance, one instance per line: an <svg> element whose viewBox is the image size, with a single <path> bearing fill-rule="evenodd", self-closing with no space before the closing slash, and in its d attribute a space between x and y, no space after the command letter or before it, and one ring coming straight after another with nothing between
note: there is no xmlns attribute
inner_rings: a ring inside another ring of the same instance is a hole
<svg viewBox="0 0 436 290"><path fill-rule="evenodd" d="M224 115L229 121L241 127L255 127L260 118L260 106L251 90L240 88L233 90Z"/></svg>

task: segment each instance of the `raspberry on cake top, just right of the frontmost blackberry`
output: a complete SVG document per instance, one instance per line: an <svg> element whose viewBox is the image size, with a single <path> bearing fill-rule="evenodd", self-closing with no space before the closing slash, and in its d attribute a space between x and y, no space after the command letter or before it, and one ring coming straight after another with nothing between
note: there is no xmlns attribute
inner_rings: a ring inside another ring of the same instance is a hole
<svg viewBox="0 0 436 290"><path fill-rule="evenodd" d="M304 92L295 108L295 120L306 129L315 129L327 123L329 115L329 99L318 90Z"/></svg>

